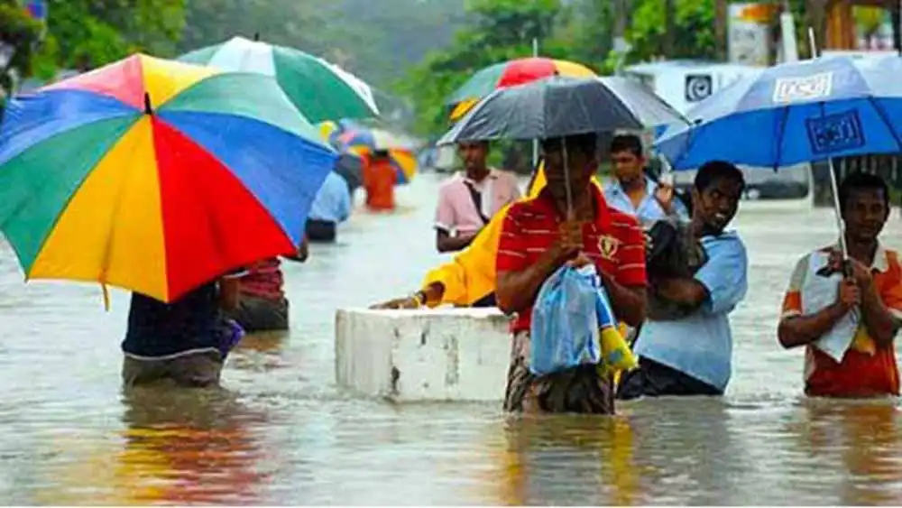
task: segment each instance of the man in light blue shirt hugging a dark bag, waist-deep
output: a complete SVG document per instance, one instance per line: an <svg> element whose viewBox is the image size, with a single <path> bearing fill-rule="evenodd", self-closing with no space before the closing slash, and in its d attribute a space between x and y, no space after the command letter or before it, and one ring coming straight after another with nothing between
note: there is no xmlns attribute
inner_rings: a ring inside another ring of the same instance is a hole
<svg viewBox="0 0 902 508"><path fill-rule="evenodd" d="M646 319L634 351L640 367L624 374L617 396L723 395L732 373L729 314L748 289L748 257L735 232L724 231L745 188L729 162L707 162L695 176L690 226L707 257L695 276L649 280L649 298L688 309L679 319Z"/></svg>

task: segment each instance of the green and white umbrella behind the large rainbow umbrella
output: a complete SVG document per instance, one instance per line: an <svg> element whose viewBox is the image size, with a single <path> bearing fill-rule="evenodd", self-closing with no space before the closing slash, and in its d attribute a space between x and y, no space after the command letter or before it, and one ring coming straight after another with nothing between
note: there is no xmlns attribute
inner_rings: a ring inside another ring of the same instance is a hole
<svg viewBox="0 0 902 508"><path fill-rule="evenodd" d="M373 91L336 65L303 51L244 37L191 51L179 60L272 76L311 122L379 114Z"/></svg>

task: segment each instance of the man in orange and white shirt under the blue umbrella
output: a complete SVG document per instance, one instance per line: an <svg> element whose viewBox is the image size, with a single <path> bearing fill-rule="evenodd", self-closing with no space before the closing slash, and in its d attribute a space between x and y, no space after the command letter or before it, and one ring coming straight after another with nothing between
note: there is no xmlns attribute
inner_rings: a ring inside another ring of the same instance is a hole
<svg viewBox="0 0 902 508"><path fill-rule="evenodd" d="M808 396L898 395L893 342L902 325L902 266L898 254L878 239L889 217L889 189L877 175L852 173L842 181L839 199L850 259L843 263L832 245L799 260L783 300L779 342L787 349L805 346ZM816 288L826 285L823 277L830 272L847 275L838 291L830 286L824 308L815 309ZM837 296L830 303L833 291ZM857 322L847 317L853 311Z"/></svg>

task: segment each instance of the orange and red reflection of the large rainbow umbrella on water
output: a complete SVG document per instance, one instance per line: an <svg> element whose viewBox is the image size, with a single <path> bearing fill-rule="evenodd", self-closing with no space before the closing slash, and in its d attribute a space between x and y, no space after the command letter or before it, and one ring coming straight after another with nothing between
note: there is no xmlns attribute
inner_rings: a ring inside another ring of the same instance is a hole
<svg viewBox="0 0 902 508"><path fill-rule="evenodd" d="M251 413L223 390L134 390L124 395L124 449L139 503L253 502L260 449Z"/></svg>

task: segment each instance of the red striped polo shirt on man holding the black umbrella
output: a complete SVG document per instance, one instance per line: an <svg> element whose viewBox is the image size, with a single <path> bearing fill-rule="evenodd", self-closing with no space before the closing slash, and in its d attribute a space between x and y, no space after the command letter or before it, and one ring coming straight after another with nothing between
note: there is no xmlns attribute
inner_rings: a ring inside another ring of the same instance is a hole
<svg viewBox="0 0 902 508"><path fill-rule="evenodd" d="M583 227L583 252L595 267L623 286L644 287L645 236L636 217L608 207L602 193L592 187L594 221ZM496 272L519 272L560 238L560 217L547 190L536 199L515 203L504 217L495 261ZM529 330L532 305L520 312L513 331Z"/></svg>

